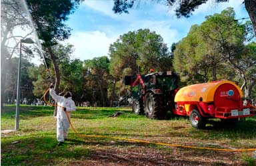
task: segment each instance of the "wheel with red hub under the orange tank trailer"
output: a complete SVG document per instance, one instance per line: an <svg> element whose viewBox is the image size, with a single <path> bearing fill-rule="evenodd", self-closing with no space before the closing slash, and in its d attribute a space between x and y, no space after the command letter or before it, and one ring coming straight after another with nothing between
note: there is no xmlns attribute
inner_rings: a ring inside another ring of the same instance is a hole
<svg viewBox="0 0 256 166"><path fill-rule="evenodd" d="M205 120L198 110L192 110L189 116L191 125L197 129L205 127Z"/></svg>

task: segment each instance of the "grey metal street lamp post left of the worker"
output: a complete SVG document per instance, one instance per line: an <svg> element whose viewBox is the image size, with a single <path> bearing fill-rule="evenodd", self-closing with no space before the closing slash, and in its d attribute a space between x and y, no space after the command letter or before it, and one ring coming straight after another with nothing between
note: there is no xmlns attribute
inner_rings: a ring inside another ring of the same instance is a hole
<svg viewBox="0 0 256 166"><path fill-rule="evenodd" d="M30 38L21 39L21 42L32 44L34 41ZM20 87L21 82L21 42L19 45L19 68L18 68L18 79L17 79L17 98L16 98L16 115L15 115L15 130L19 129L19 100L20 100Z"/></svg>

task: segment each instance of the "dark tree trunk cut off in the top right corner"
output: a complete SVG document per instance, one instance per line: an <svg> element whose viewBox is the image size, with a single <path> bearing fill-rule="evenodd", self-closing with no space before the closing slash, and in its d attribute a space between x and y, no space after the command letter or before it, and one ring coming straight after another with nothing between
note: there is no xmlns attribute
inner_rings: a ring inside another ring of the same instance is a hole
<svg viewBox="0 0 256 166"><path fill-rule="evenodd" d="M253 29L256 35L256 0L245 0L245 9L253 23Z"/></svg>

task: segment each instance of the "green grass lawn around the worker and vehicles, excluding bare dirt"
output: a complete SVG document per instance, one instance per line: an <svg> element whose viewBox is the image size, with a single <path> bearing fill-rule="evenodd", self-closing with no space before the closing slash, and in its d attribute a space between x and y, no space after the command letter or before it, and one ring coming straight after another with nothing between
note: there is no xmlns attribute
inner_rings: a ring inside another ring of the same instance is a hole
<svg viewBox="0 0 256 166"><path fill-rule="evenodd" d="M15 106L5 106L2 111L1 130L13 129ZM107 118L117 111L123 114L118 118ZM1 134L1 165L69 165L71 161L90 159L95 151L116 148L149 148L165 155L173 153L173 147L161 145L101 137L81 138L71 128L69 141L63 147L55 147L56 122L52 115L52 107L21 106L19 130ZM239 122L232 127L223 127L216 121L203 130L191 127L187 118L149 120L133 114L130 108L77 108L71 117L75 129L83 135L105 135L214 148L256 147L255 117L247 118L245 122ZM218 152L207 150L177 149L185 154L193 154L191 157L218 155ZM239 162L247 165L256 161L252 152L234 155ZM219 162L222 161L216 161L215 165L222 165Z"/></svg>

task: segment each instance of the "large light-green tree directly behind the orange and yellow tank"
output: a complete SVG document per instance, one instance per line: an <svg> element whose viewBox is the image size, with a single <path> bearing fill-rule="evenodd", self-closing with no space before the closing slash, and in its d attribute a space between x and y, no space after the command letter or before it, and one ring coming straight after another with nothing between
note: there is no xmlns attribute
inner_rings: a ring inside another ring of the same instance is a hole
<svg viewBox="0 0 256 166"><path fill-rule="evenodd" d="M241 84L245 96L250 96L249 89L255 87L251 71L255 70L256 52L253 40L247 38L249 25L235 21L232 8L207 16L201 25L193 25L175 50L174 67L183 81L225 78Z"/></svg>

